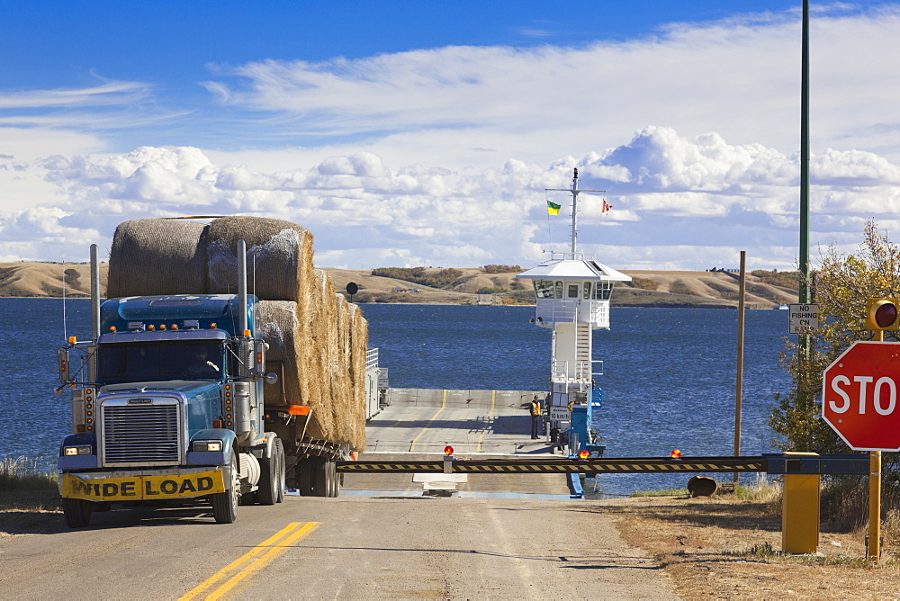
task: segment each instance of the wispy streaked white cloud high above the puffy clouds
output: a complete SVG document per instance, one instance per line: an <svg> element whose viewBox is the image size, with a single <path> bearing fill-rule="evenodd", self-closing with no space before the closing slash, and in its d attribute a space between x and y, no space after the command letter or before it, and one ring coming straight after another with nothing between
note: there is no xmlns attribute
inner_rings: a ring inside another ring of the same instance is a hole
<svg viewBox="0 0 900 601"><path fill-rule="evenodd" d="M900 7L845 9L824 7L812 23L813 148L896 158ZM608 148L644 123L791 154L799 145L799 59L797 13L766 13L577 48L266 60L222 69L215 84L230 105L277 115L273 135L343 140L400 164L546 162Z"/></svg>

